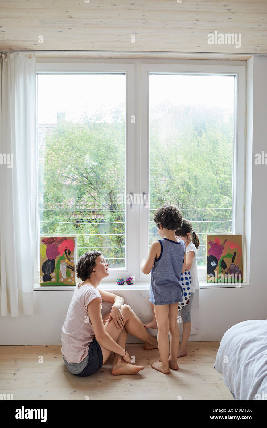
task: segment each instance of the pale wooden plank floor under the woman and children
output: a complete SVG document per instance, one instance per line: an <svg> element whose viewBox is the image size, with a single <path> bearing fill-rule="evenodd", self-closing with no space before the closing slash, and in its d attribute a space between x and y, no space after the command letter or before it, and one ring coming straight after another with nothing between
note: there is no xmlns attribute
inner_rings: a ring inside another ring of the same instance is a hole
<svg viewBox="0 0 267 428"><path fill-rule="evenodd" d="M233 400L213 369L219 342L189 342L187 356L177 360L179 370L169 375L151 369L157 349L126 348L145 367L140 374L112 376L112 353L94 375L78 377L66 368L60 345L0 346L0 392L14 400Z"/></svg>

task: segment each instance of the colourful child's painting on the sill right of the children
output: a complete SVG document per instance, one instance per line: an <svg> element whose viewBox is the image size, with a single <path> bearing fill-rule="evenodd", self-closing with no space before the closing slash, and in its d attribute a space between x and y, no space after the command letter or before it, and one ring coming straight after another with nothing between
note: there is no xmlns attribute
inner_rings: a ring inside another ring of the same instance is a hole
<svg viewBox="0 0 267 428"><path fill-rule="evenodd" d="M207 235L207 282L243 282L242 235Z"/></svg>

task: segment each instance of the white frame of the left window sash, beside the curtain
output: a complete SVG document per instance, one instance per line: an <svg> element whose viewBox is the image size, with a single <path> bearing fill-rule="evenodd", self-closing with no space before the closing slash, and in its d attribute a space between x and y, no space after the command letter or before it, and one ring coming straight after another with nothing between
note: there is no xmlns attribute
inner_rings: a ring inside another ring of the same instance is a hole
<svg viewBox="0 0 267 428"><path fill-rule="evenodd" d="M134 193L135 186L135 169L133 168L133 159L135 158L135 126L131 122L131 116L133 113L133 107L135 105L135 65L134 64L119 64L119 63L37 63L36 64L36 73L37 74L85 74L85 73L125 73L126 74L126 163L125 163L125 196L132 192ZM36 79L37 80L37 79ZM37 93L37 91L36 91ZM37 95L36 95L37 97ZM37 99L36 99L36 109L37 109ZM36 114L36 122L38 122L38 112ZM36 124L38 128L38 123ZM38 135L36 129L36 136ZM38 138L36 137L36 144L38 144ZM128 171L131 171L129 174ZM39 282L40 276L40 256L39 256L39 243L40 243L40 234L39 234L39 174L38 174L38 165L36 165L36 176L38 187L36 190L36 237L35 237L35 275L34 281ZM127 198L126 198L127 202ZM109 272L109 276L103 279L102 282L108 281L117 281L118 277L123 277L126 279L128 276L134 274L134 254L135 254L135 240L134 240L134 228L132 225L135 223L135 209L130 207L126 203L126 212L125 212L125 254L126 254L126 268L114 268Z"/></svg>

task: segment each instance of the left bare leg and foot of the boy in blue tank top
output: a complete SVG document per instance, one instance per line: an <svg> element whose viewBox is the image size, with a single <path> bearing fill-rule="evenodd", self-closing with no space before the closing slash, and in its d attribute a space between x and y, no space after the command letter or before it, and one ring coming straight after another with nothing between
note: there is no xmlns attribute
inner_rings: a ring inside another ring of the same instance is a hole
<svg viewBox="0 0 267 428"><path fill-rule="evenodd" d="M169 305L154 306L156 321L158 325L158 345L161 361L154 361L152 368L159 372L170 373L169 368Z"/></svg>

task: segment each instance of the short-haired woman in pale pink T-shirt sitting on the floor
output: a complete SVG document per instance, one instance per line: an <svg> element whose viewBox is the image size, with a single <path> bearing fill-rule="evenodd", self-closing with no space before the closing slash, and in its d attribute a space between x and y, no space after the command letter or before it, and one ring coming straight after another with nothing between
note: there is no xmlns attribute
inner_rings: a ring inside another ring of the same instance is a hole
<svg viewBox="0 0 267 428"><path fill-rule="evenodd" d="M157 340L147 332L123 297L98 289L109 275L108 263L99 251L85 253L77 262L80 282L62 327L62 356L73 375L89 376L97 372L114 352L112 375L135 375L144 366L131 363L125 344L128 333L144 342L144 350L158 348ZM112 303L111 312L102 317L101 303Z"/></svg>

